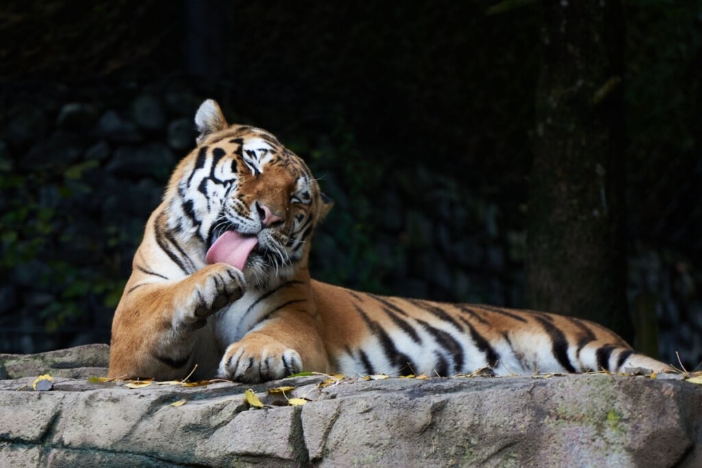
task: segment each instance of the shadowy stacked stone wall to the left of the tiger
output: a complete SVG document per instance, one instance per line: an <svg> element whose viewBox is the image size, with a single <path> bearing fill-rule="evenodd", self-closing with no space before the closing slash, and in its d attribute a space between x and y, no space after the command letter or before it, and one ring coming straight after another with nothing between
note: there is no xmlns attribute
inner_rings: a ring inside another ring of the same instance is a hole
<svg viewBox="0 0 702 468"><path fill-rule="evenodd" d="M26 208L3 222L0 347L105 342L145 221L194 146L197 99L57 86L28 101L4 116L0 135L2 212Z"/></svg>

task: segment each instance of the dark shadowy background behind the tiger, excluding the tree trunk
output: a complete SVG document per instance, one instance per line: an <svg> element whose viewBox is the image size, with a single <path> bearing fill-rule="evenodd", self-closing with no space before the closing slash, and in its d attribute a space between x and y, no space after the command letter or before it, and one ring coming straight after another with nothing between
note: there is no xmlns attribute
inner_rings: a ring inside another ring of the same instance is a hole
<svg viewBox="0 0 702 468"><path fill-rule="evenodd" d="M694 368L702 1L623 6L623 313L652 330L653 349L637 347ZM543 13L529 0L4 2L0 352L109 342L205 98L277 135L336 201L317 279L527 307Z"/></svg>

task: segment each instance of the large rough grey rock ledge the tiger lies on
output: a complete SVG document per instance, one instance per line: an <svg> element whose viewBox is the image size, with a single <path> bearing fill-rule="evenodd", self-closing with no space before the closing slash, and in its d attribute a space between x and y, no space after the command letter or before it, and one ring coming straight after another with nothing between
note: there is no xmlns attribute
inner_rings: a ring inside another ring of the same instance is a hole
<svg viewBox="0 0 702 468"><path fill-rule="evenodd" d="M32 390L33 377L2 380L0 465L702 465L702 386L682 380L352 378L320 388L324 379L128 389L57 377L49 392ZM266 391L280 385L310 401L284 406ZM250 408L247 388L267 408Z"/></svg>

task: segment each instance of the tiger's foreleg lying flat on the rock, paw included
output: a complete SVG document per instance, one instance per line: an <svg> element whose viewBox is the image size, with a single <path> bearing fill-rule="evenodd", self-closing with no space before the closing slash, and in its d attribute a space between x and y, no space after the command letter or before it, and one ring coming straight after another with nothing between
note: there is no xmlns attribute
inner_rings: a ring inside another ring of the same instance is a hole
<svg viewBox="0 0 702 468"><path fill-rule="evenodd" d="M239 382L265 382L310 370L329 372L329 357L317 316L299 309L276 312L233 343L219 375Z"/></svg>

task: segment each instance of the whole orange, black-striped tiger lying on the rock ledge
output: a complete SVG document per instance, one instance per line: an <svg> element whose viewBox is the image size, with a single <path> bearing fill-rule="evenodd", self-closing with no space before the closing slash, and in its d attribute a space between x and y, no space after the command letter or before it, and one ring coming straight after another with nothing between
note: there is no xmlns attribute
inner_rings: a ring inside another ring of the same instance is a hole
<svg viewBox="0 0 702 468"><path fill-rule="evenodd" d="M114 314L109 377L265 382L303 371L451 376L668 372L571 316L362 293L310 277L312 235L333 206L271 133L194 118Z"/></svg>

